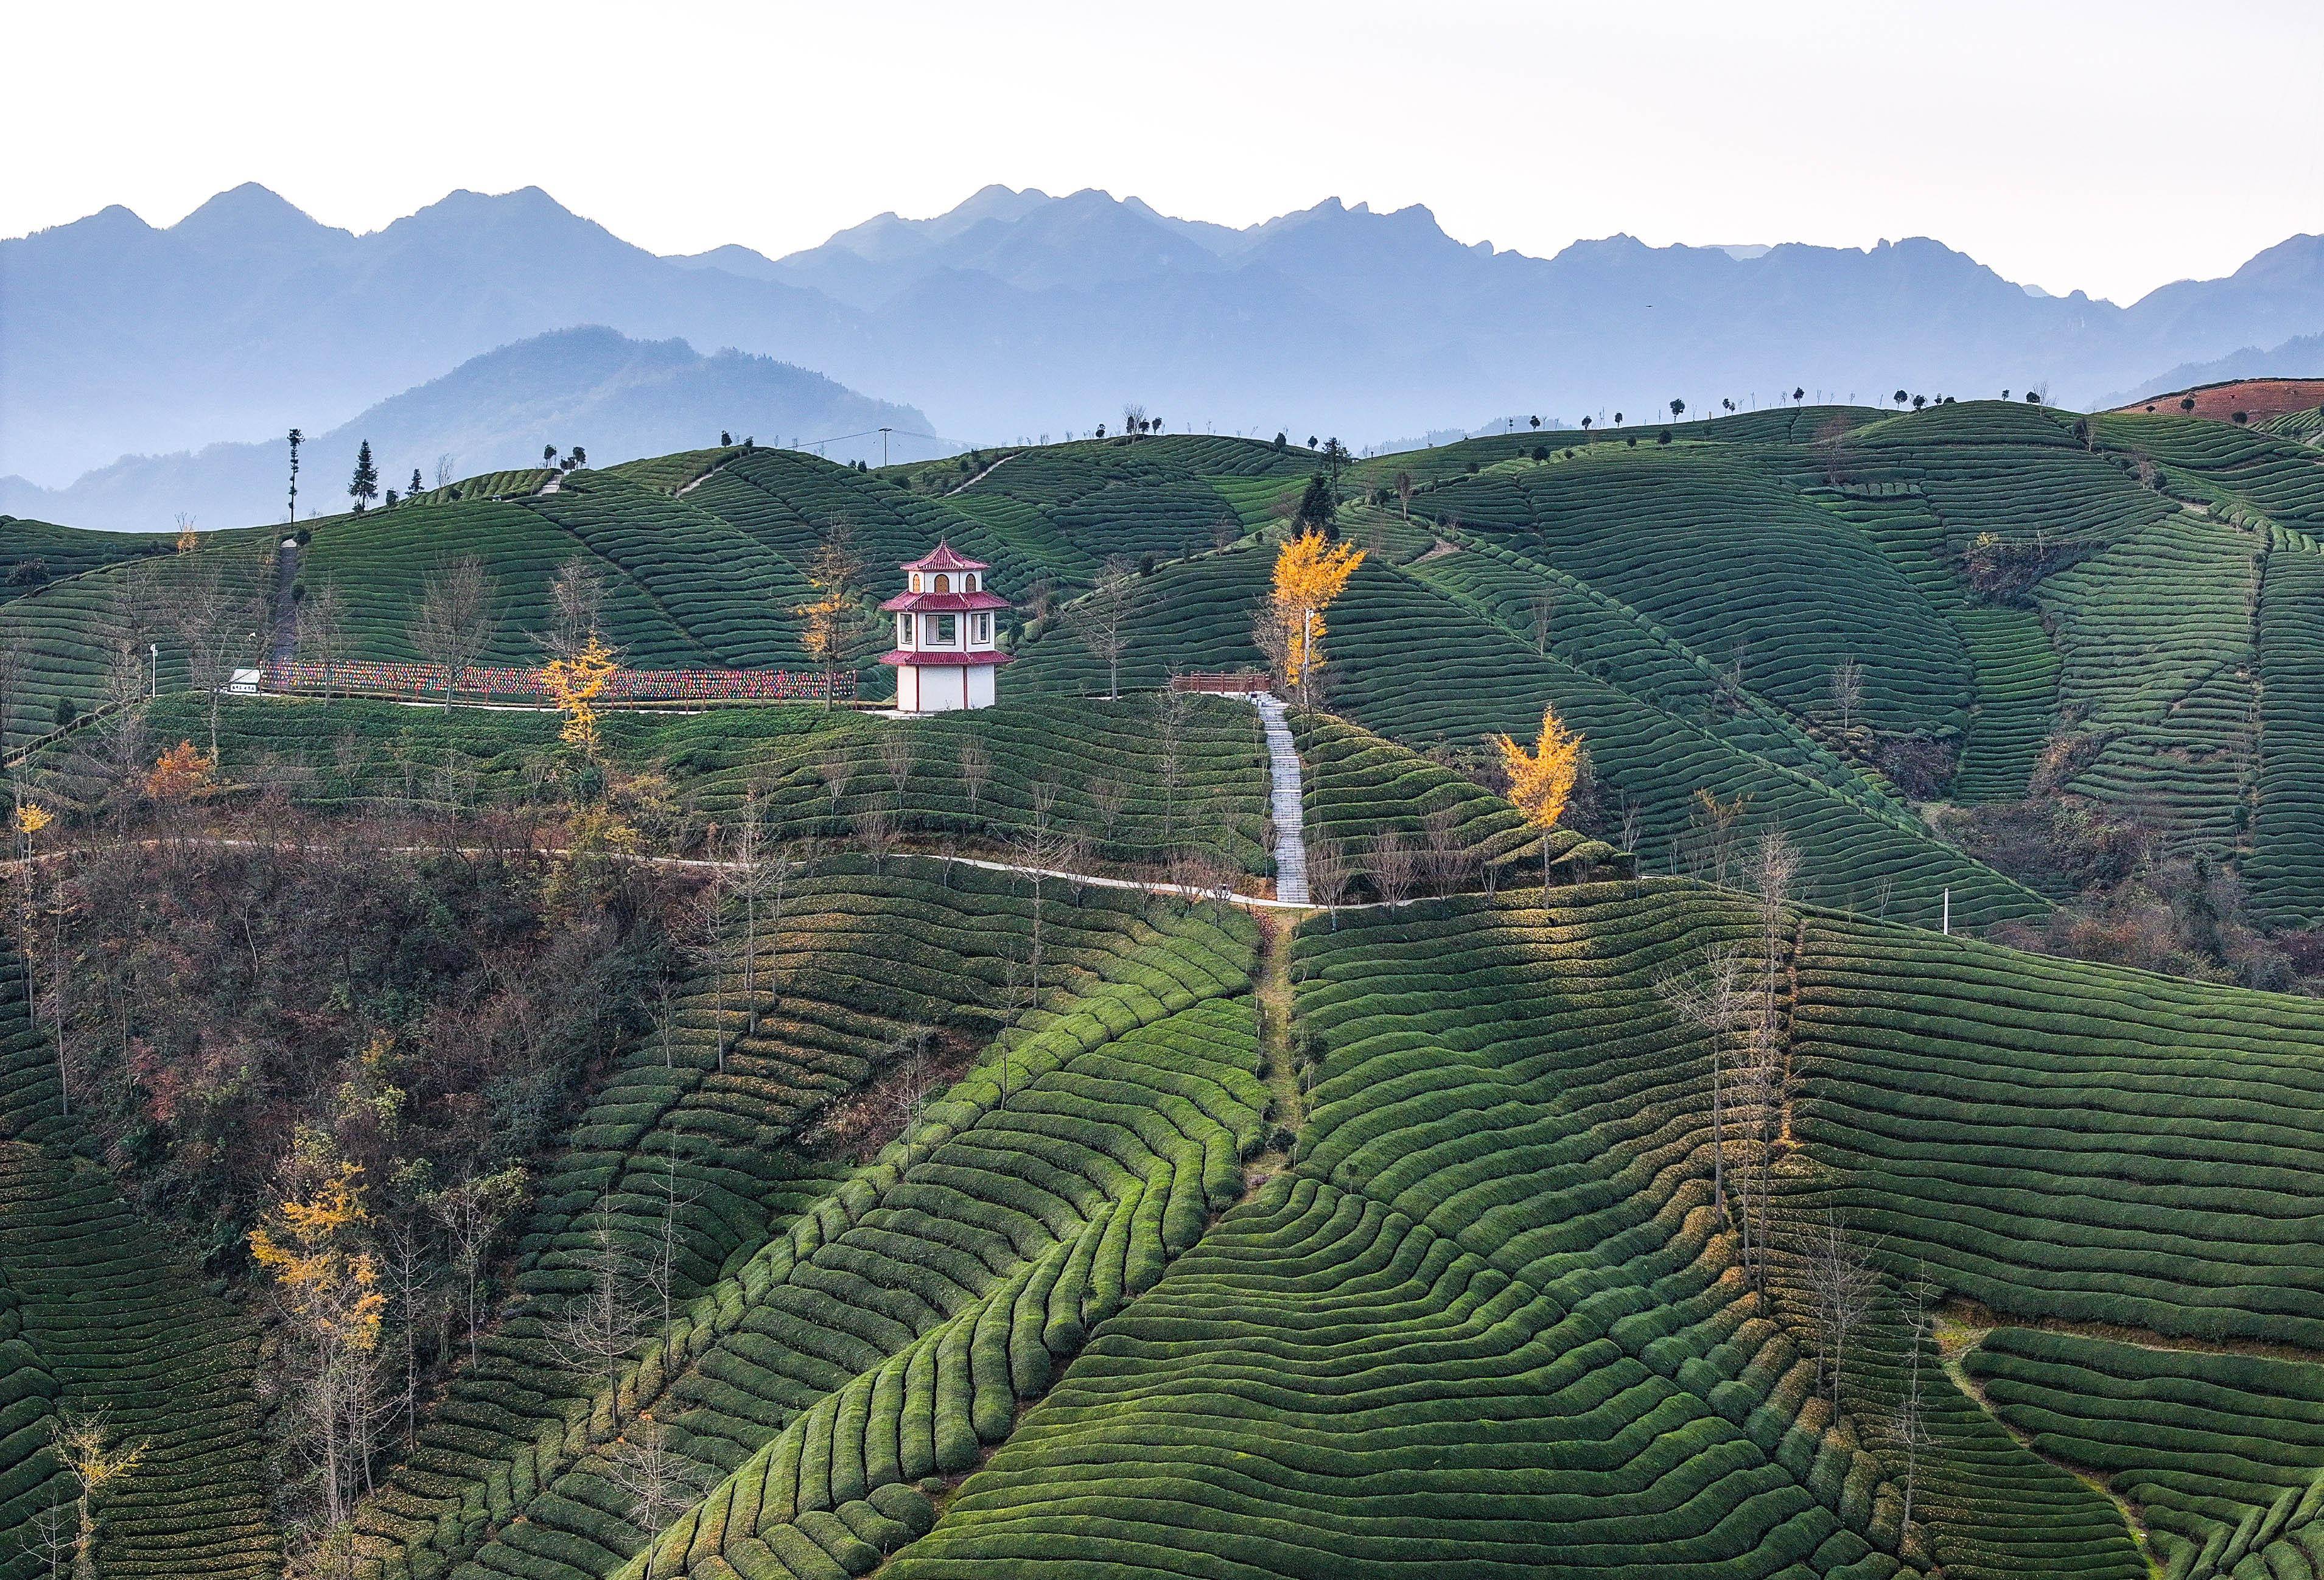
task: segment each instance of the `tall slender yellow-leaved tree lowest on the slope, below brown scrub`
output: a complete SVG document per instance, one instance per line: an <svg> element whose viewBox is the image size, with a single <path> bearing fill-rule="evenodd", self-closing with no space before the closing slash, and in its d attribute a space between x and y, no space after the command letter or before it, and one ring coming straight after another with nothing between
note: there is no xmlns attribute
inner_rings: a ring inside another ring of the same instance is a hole
<svg viewBox="0 0 2324 1580"><path fill-rule="evenodd" d="M251 1259L281 1299L297 1422L318 1459L323 1520L339 1527L381 1415L374 1352L388 1297L370 1248L363 1164L332 1164L325 1150L321 1136L300 1136L288 1194L251 1229Z"/></svg>

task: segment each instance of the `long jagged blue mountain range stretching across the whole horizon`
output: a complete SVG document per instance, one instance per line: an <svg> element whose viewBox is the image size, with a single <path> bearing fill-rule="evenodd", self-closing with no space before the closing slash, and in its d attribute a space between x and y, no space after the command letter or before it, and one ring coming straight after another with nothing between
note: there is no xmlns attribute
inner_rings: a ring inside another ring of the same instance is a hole
<svg viewBox="0 0 2324 1580"><path fill-rule="evenodd" d="M0 242L0 472L63 486L123 453L330 430L574 325L816 367L911 397L927 432L964 441L1088 432L1134 400L1181 430L1364 444L1792 386L2043 386L2092 404L2324 330L2324 239L2115 307L2031 293L1929 239L1608 237L1529 258L1455 242L1422 207L1339 200L1234 230L1099 191L990 186L788 258L658 258L539 188L453 193L358 237L239 186L165 230L112 207Z"/></svg>

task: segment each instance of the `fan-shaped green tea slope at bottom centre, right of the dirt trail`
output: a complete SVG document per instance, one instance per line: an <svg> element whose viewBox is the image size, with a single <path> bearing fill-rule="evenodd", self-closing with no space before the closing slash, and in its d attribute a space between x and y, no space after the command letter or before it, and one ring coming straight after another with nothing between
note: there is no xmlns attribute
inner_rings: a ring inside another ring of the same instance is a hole
<svg viewBox="0 0 2324 1580"><path fill-rule="evenodd" d="M1920 1573L1706 1211L1708 1050L1650 964L1748 920L1571 895L1299 932L1294 1169L1097 1331L897 1580Z"/></svg>

